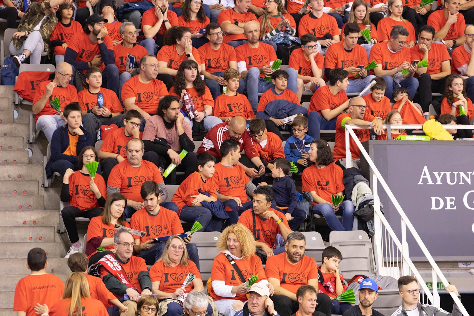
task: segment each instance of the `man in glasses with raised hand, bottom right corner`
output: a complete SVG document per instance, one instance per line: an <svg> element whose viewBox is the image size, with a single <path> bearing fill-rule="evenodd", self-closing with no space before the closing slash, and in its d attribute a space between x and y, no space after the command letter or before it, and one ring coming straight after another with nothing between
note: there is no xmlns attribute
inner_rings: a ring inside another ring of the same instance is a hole
<svg viewBox="0 0 474 316"><path fill-rule="evenodd" d="M419 285L418 280L410 275L402 276L398 279L398 290L403 304L393 312L392 316L461 316L463 313L457 307L456 303L453 304L453 311L451 313L428 304L422 304L419 302ZM446 287L446 291L453 292L456 296L461 299L456 286L453 284Z"/></svg>

